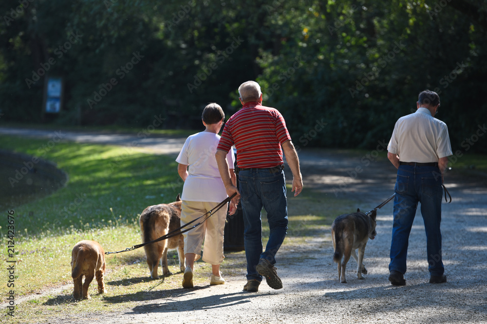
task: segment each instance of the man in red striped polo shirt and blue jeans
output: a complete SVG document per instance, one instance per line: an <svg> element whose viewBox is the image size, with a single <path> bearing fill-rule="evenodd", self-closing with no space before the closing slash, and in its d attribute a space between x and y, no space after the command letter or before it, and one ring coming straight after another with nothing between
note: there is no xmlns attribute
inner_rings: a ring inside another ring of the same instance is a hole
<svg viewBox="0 0 487 324"><path fill-rule="evenodd" d="M216 160L226 193L237 192L244 215L244 246L247 259L247 283L244 290L258 291L265 277L269 287L281 289L282 282L274 267L276 253L287 231L286 184L283 154L293 173L292 192L300 194L303 184L298 154L281 113L262 106L261 87L247 81L239 87L242 109L225 123L217 147ZM226 153L235 145L239 169L239 189L232 185ZM269 222L269 240L262 252L261 210Z"/></svg>

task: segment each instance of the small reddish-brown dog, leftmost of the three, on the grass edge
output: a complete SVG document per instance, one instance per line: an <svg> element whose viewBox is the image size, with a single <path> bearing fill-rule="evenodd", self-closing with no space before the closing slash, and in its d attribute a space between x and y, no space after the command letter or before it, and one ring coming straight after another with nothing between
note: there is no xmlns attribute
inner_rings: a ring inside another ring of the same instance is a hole
<svg viewBox="0 0 487 324"><path fill-rule="evenodd" d="M105 251L98 242L82 240L75 244L71 252L71 276L75 283L73 297L89 299L88 287L94 276L98 282L98 293L105 292L103 275L105 273ZM85 283L82 283L85 276ZM81 296L82 293L82 296Z"/></svg>

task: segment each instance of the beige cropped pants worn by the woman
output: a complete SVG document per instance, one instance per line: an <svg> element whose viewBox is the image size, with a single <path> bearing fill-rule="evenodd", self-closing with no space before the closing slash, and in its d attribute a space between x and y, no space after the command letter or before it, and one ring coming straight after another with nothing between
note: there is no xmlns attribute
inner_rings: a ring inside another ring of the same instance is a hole
<svg viewBox="0 0 487 324"><path fill-rule="evenodd" d="M181 205L181 225L195 220L201 215L205 214L209 210L213 209L219 203L208 202L190 202L183 200ZM184 253L194 253L197 256L201 255L201 245L203 239L205 245L203 247L203 261L208 262L211 265L217 265L223 261L223 234L225 230L227 206L223 206L217 212L213 212L203 224L196 228L183 233L184 236ZM205 217L200 218L198 221L190 224L194 226L197 223L204 220ZM198 259L198 257L196 257Z"/></svg>

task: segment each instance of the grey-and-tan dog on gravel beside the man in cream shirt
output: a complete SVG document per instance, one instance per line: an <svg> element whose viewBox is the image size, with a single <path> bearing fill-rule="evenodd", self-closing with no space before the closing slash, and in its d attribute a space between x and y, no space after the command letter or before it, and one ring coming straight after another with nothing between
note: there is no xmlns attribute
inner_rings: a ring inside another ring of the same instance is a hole
<svg viewBox="0 0 487 324"><path fill-rule="evenodd" d="M332 240L335 249L333 261L338 264L338 280L341 283L347 282L345 280L345 268L350 255L357 261L357 278L365 279L362 273L367 274L367 269L362 261L367 241L369 238L375 239L377 235L375 232L376 216L376 210L366 215L357 208L356 213L340 215L333 221ZM355 252L356 249L358 249L358 257Z"/></svg>

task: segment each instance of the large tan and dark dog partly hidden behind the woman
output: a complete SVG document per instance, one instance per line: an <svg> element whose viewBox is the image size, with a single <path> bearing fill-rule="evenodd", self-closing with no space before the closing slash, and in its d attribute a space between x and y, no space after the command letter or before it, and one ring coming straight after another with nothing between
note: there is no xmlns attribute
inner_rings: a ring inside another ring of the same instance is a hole
<svg viewBox="0 0 487 324"><path fill-rule="evenodd" d="M182 201L178 194L174 203L153 205L144 209L139 218L143 243L158 239L170 231L181 227L181 203ZM157 267L159 266L161 256L163 274L172 274L168 268L168 249L176 248L179 254L179 269L181 269L181 272L184 272L186 266L183 234L144 246L150 277L152 279L159 278L157 275Z"/></svg>

